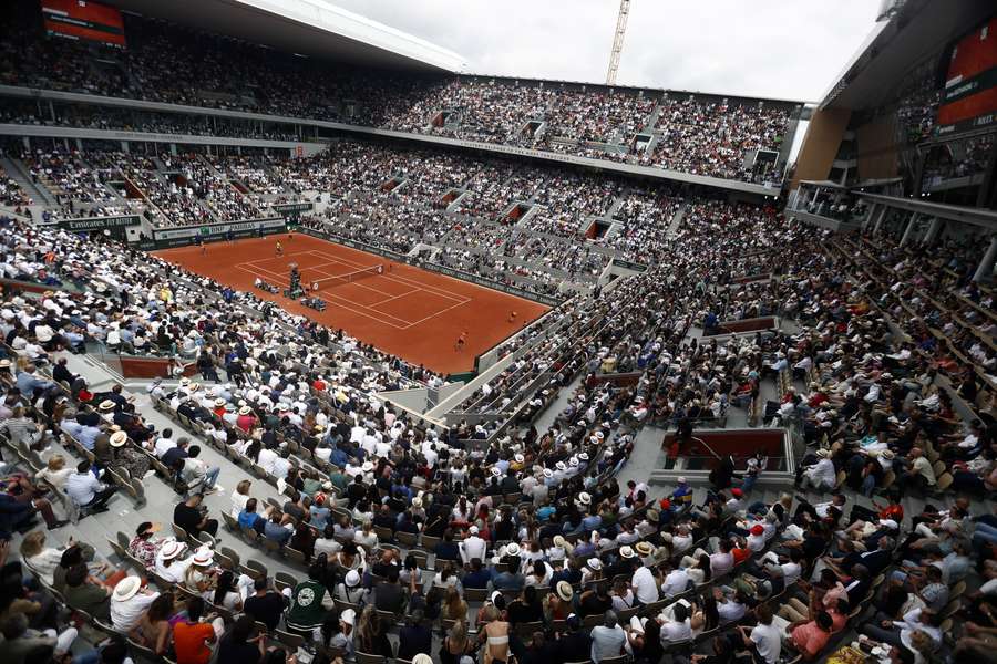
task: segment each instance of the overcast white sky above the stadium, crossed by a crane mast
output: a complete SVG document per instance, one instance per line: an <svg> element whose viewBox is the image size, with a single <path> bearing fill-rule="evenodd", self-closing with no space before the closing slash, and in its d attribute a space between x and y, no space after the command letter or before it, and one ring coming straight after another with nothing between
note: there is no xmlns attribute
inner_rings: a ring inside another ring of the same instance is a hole
<svg viewBox="0 0 997 664"><path fill-rule="evenodd" d="M603 83L618 0L329 0L458 52L473 73ZM617 82L819 101L876 0L631 0Z"/></svg>

